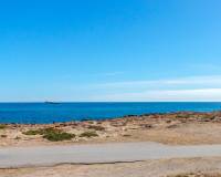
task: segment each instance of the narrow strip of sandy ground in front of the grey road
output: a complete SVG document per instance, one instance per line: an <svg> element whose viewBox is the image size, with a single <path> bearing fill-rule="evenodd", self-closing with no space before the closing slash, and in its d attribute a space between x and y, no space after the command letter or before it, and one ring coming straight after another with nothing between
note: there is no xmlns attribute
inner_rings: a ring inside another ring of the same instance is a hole
<svg viewBox="0 0 221 177"><path fill-rule="evenodd" d="M0 169L1 177L220 177L221 158ZM189 176L188 176L188 175ZM196 174L196 175L192 175ZM180 175L180 176L178 176Z"/></svg>

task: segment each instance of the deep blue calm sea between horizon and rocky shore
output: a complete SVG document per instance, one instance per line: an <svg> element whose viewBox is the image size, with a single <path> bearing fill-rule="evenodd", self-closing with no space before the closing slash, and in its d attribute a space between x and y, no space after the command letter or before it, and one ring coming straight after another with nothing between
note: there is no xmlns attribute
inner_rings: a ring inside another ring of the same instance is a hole
<svg viewBox="0 0 221 177"><path fill-rule="evenodd" d="M178 111L221 111L221 103L0 103L0 123L102 119Z"/></svg>

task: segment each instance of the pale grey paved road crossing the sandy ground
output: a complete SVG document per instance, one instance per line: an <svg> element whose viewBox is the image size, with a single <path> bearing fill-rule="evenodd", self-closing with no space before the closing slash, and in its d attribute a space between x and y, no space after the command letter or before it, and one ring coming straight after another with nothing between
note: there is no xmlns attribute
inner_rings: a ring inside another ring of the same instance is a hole
<svg viewBox="0 0 221 177"><path fill-rule="evenodd" d="M221 145L167 146L146 142L13 147L0 148L0 168L208 156L221 156Z"/></svg>

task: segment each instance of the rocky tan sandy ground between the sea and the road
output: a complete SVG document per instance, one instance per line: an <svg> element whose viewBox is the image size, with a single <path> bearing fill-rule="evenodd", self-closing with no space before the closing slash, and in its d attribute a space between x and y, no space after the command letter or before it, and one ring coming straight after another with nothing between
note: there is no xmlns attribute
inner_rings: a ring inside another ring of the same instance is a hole
<svg viewBox="0 0 221 177"><path fill-rule="evenodd" d="M75 134L75 138L52 143L29 129L53 127ZM95 132L97 137L81 137ZM9 124L0 128L0 147L106 142L158 142L172 145L221 144L221 113L173 113L127 116L112 121L85 121L49 125Z"/></svg>

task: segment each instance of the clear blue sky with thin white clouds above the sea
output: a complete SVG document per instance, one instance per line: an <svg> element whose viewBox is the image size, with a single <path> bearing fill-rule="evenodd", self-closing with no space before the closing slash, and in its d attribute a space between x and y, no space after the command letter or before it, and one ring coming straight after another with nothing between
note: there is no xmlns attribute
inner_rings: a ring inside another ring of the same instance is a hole
<svg viewBox="0 0 221 177"><path fill-rule="evenodd" d="M221 101L220 0L0 2L0 101Z"/></svg>

